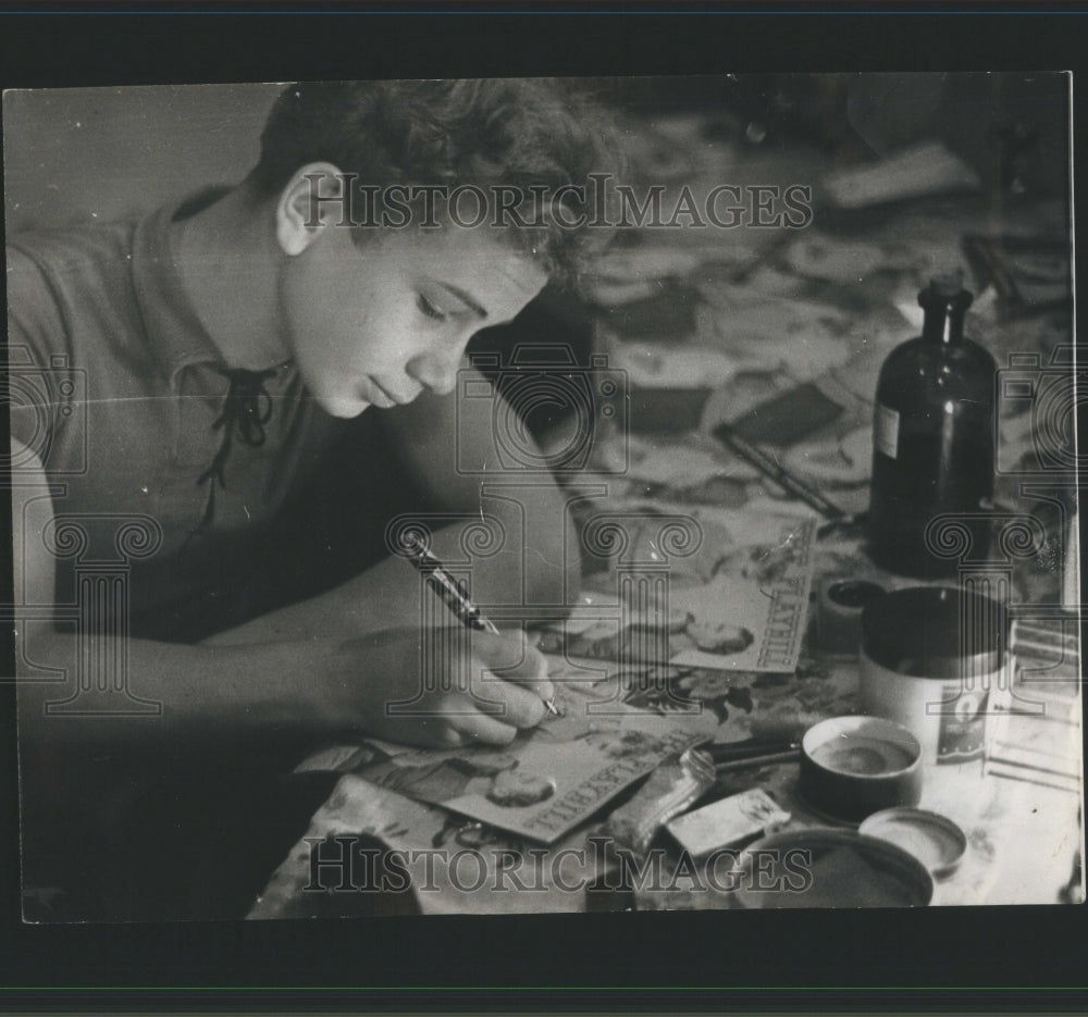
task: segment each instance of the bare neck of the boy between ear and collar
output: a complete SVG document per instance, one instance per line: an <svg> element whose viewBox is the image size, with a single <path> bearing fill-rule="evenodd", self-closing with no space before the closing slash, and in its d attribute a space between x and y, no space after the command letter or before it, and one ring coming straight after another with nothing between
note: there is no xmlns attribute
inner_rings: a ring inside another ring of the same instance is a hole
<svg viewBox="0 0 1088 1017"><path fill-rule="evenodd" d="M182 285L228 368L290 359L276 315L279 246L267 201L242 184L171 224Z"/></svg>

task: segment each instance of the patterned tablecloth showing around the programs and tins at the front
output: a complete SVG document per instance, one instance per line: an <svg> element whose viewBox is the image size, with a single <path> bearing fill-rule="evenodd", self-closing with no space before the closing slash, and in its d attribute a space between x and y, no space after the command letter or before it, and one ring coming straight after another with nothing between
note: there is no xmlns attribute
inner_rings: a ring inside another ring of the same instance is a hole
<svg viewBox="0 0 1088 1017"><path fill-rule="evenodd" d="M818 547L821 571L903 584L875 570L856 539ZM827 717L856 712L857 682L856 660L814 652L805 652L801 665L789 674L680 670L675 679L679 697L702 703L704 721L707 711L719 718L715 741L721 742L795 733ZM1075 753L1079 727L1064 730L1061 736L1067 742L1066 751ZM766 766L732 774L719 783L716 793L724 796L762 787L792 815L791 828L833 824L850 829L809 808L798 791L798 777L796 764ZM1071 898L1081 840L1077 795L986 774L982 760L977 759L927 767L920 807L953 819L968 842L959 869L937 880L935 905ZM733 896L720 892L720 879L714 884L705 873L678 870L679 856L666 834L655 842L659 868L639 876L641 885L603 875L615 871L614 859L609 867L601 842L594 842L603 835L606 818L595 817L543 847L378 787L359 773L346 773L276 870L250 917L371 914L375 909L507 914L732 906ZM379 848L394 854L392 872L384 876L375 876L373 869ZM355 861L345 869L342 859L353 853ZM610 892L588 894L586 886L595 880L604 880Z"/></svg>

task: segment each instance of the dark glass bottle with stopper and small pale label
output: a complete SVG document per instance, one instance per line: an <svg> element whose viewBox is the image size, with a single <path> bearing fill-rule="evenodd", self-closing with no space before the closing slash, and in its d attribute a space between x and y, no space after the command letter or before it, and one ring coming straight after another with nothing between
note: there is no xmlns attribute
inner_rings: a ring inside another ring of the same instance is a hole
<svg viewBox="0 0 1088 1017"><path fill-rule="evenodd" d="M962 280L939 276L918 294L922 335L889 354L877 383L869 553L903 575L955 574L960 558L934 554L926 530L937 516L981 513L993 494L997 364L964 338L972 295ZM967 554L985 557L989 523L979 516L964 525Z"/></svg>

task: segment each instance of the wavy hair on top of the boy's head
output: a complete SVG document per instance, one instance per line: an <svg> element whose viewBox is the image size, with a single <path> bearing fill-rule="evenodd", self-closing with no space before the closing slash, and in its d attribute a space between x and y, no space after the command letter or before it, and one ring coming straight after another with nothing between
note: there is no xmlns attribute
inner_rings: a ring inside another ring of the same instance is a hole
<svg viewBox="0 0 1088 1017"><path fill-rule="evenodd" d="M306 163L330 162L357 174L360 199L363 187L393 184L506 185L522 195L568 188L559 200L566 223L522 215L526 225L503 230L504 239L562 281L607 239L606 231L570 227L569 188L592 193L590 174L615 173L616 151L603 114L556 79L297 84L269 115L250 179L271 194Z"/></svg>

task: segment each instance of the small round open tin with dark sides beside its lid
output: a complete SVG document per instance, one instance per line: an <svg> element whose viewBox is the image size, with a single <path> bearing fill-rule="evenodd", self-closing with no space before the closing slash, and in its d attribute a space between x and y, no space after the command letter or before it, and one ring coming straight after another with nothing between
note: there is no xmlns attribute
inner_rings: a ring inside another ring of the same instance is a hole
<svg viewBox="0 0 1088 1017"><path fill-rule="evenodd" d="M801 794L849 822L922 798L922 745L879 717L832 717L801 740Z"/></svg>

